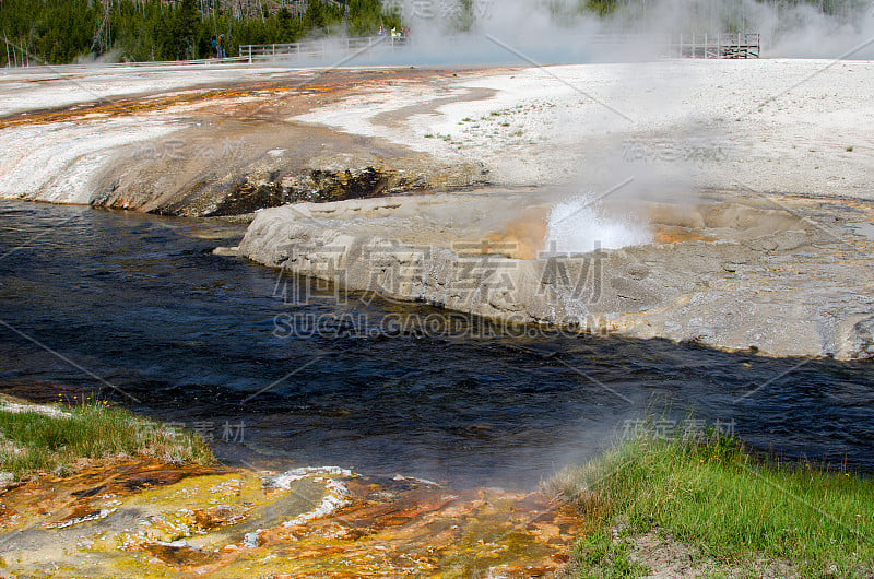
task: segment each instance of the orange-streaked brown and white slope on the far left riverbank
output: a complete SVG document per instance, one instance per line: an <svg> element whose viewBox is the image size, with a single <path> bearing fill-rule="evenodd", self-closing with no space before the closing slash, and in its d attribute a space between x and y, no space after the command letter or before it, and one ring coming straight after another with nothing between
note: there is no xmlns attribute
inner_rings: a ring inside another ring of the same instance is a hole
<svg viewBox="0 0 874 579"><path fill-rule="evenodd" d="M33 103L25 111L19 99L5 103L0 196L203 216L484 180L477 163L437 164L404 146L287 120L389 78L432 82L433 72L115 71L0 79L2 93ZM64 106L50 105L58 92Z"/></svg>

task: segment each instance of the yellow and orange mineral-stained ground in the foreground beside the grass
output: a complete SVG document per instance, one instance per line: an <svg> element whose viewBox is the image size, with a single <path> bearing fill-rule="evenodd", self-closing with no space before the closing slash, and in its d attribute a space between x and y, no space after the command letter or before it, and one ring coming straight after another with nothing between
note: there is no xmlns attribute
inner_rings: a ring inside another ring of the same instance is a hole
<svg viewBox="0 0 874 579"><path fill-rule="evenodd" d="M0 494L0 577L539 577L579 532L536 493L119 460Z"/></svg>

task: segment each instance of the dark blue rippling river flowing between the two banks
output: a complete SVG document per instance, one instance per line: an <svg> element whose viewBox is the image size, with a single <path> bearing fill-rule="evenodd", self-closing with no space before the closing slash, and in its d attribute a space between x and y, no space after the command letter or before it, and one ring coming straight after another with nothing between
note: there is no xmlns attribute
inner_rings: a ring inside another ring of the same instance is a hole
<svg viewBox="0 0 874 579"><path fill-rule="evenodd" d="M221 223L3 202L0 226L0 391L98 390L237 462L519 487L669 405L666 434L692 410L764 450L874 469L871 364L489 335L213 256L241 235Z"/></svg>

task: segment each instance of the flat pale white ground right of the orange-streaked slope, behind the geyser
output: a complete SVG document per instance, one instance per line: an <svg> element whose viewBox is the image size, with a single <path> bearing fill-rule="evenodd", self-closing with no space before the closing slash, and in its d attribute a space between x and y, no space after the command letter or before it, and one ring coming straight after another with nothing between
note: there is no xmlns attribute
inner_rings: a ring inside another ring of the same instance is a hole
<svg viewBox="0 0 874 579"><path fill-rule="evenodd" d="M583 64L392 86L294 119L475 158L504 185L584 192L635 177L654 199L677 185L865 199L872 90L871 61Z"/></svg>

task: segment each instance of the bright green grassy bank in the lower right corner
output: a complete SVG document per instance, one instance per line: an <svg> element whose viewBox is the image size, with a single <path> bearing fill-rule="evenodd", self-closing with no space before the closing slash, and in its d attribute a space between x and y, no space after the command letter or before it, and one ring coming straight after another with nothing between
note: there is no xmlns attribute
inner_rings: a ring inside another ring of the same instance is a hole
<svg viewBox="0 0 874 579"><path fill-rule="evenodd" d="M730 438L641 435L545 487L592 523L574 577L638 577L672 564L713 577L874 572L874 483L756 459Z"/></svg>

